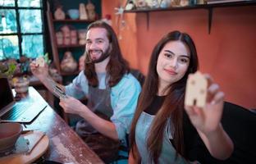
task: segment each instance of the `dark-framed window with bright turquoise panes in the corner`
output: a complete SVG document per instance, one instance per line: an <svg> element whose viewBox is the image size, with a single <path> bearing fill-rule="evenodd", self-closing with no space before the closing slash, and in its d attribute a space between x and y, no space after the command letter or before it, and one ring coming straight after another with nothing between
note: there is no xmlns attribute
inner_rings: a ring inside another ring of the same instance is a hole
<svg viewBox="0 0 256 164"><path fill-rule="evenodd" d="M0 0L0 60L42 56L43 0Z"/></svg>

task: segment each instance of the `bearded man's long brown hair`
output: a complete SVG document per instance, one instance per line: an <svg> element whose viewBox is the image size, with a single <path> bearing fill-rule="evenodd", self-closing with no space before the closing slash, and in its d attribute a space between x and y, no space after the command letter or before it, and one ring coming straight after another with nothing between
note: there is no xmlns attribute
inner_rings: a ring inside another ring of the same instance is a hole
<svg viewBox="0 0 256 164"><path fill-rule="evenodd" d="M114 30L112 30L110 25L107 25L107 23L103 21L94 21L87 27L87 30L93 28L103 28L107 30L107 39L109 40L112 48L109 52L110 60L107 63L106 71L107 77L109 78L108 86L113 87L121 80L123 75L130 71L128 62L126 62L126 60L121 55L121 49L118 44L117 35L115 34ZM89 85L93 87L98 86L98 78L93 62L85 62L85 76L89 81Z"/></svg>

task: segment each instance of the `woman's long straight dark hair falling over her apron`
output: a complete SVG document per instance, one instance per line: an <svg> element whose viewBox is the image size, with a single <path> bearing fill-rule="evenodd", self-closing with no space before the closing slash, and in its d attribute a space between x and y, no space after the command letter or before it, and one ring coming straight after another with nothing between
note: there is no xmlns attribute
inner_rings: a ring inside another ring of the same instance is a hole
<svg viewBox="0 0 256 164"><path fill-rule="evenodd" d="M190 65L183 78L174 84L170 84L167 89L167 96L153 119L151 129L149 131L149 138L147 140L147 147L149 149L150 157L154 163L158 163L158 157L162 150L162 139L164 130L167 125L168 118L171 117L171 127L174 127L174 146L177 153L185 155L184 153L184 139L183 139L183 112L184 112L184 97L185 84L190 73L194 73L198 69L198 57L196 48L190 35L173 31L165 35L158 44L153 48L153 52L149 62L148 75L146 77L142 92L139 96L139 102L135 112L134 119L130 130L130 146L134 157L139 157L138 150L135 147L135 128L139 116L149 105L153 102L153 98L158 93L158 72L157 63L158 56L162 48L171 41L181 41L190 49ZM176 154L177 157L177 154ZM139 159L137 159L138 161Z"/></svg>

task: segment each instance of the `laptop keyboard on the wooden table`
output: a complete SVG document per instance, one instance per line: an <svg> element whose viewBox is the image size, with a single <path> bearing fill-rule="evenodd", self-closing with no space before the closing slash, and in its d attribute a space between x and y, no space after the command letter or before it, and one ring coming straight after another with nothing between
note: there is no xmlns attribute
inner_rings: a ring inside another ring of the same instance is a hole
<svg viewBox="0 0 256 164"><path fill-rule="evenodd" d="M19 116L22 115L26 110L30 109L30 103L21 103L17 104L16 106L12 107L11 110L6 112L1 119L2 120L12 120L15 121Z"/></svg>

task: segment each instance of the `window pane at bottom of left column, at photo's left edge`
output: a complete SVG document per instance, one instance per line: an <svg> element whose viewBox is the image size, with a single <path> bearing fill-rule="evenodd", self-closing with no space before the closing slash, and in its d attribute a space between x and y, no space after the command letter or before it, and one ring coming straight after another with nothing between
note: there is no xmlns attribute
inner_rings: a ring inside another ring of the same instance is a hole
<svg viewBox="0 0 256 164"><path fill-rule="evenodd" d="M0 36L0 60L6 58L20 58L18 37L16 35Z"/></svg>

